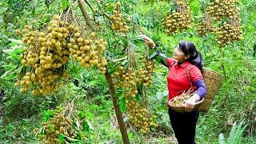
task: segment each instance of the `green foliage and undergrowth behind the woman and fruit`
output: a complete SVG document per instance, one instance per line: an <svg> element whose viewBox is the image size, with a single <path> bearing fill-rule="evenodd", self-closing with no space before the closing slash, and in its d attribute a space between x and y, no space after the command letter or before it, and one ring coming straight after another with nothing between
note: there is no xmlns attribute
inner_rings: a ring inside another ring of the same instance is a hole
<svg viewBox="0 0 256 144"><path fill-rule="evenodd" d="M2 0L0 2L0 75L13 70L18 63L18 52L8 53L17 48L14 34L15 29L21 29L26 24L33 24L43 28L50 21L53 14L65 9L65 0L50 1L21 1ZM70 1L71 2L71 1ZM113 2L110 0L104 3ZM190 0L194 22L202 18L209 0ZM72 2L71 2L72 3ZM92 3L94 3L92 1ZM50 4L50 5L49 5ZM218 143L218 134L228 135L232 124L244 120L242 143L256 142L255 112L250 106L256 100L256 1L242 0L241 18L244 38L241 42L234 42L230 46L219 49L214 42L214 34L205 38L195 33L196 24L190 30L173 36L162 33L160 24L170 10L172 2L164 1L122 1L123 11L130 14L154 39L158 50L171 57L173 48L182 40L194 42L202 52L205 66L216 70L224 77L221 90L214 99L213 106L206 114L201 114L198 120L196 141L198 143ZM97 9L97 6L94 5ZM77 10L78 16L81 16ZM91 11L88 9L88 12ZM107 36L107 34L106 34ZM85 70L76 62L69 63L70 81L54 95L46 97L32 97L30 94L20 94L14 86L15 74L0 79L0 142L36 142L32 130L42 122L42 113L65 102L78 97L75 102L79 112L94 126L90 131L90 142L122 142L119 130L113 126L114 110L107 84L102 74L96 70ZM225 71L225 73L224 73ZM150 110L157 116L158 129L150 135L141 135L129 129L131 142L166 142L166 138L174 138L170 130L169 117L166 113L166 74L167 70L158 65L153 78L153 85L149 87L148 98ZM4 98L4 97L5 98ZM152 105L153 104L153 105ZM256 104L255 104L256 105Z"/></svg>

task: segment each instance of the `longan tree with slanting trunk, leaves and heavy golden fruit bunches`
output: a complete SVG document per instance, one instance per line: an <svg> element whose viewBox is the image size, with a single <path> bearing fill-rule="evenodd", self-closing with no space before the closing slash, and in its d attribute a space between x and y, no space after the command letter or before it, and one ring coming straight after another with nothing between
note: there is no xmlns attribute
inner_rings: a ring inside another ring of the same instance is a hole
<svg viewBox="0 0 256 144"><path fill-rule="evenodd" d="M150 114L146 106L146 87L151 83L155 60L148 59L149 48L136 38L138 27L131 22L129 15L122 13L121 2L111 3L108 12L97 2L97 14L90 2L86 1L86 4L94 13L93 21L83 1L78 1L86 26L70 6L62 14L55 14L44 29L34 30L32 26L25 26L23 30L16 30L24 43L20 57L24 67L16 86L21 87L22 93L54 94L68 77L66 66L70 59L86 69L98 68L109 85L122 141L130 143L120 102L126 105L129 121L142 134L157 126L154 114ZM56 115L58 117L61 118L62 114ZM50 122L57 122L56 118ZM58 142L58 134L71 130L70 120L62 119L62 128L56 127L58 133L48 130L48 135L40 136L42 140ZM72 131L65 134L72 138L77 136Z"/></svg>

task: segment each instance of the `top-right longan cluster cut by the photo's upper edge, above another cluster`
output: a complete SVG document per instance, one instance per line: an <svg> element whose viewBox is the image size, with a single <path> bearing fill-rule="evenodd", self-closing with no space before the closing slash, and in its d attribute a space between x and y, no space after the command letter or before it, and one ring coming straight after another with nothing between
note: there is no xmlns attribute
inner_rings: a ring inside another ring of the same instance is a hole
<svg viewBox="0 0 256 144"><path fill-rule="evenodd" d="M222 17L238 18L239 9L236 8L235 3L238 0L214 0L206 9L206 13L210 14L215 21Z"/></svg>

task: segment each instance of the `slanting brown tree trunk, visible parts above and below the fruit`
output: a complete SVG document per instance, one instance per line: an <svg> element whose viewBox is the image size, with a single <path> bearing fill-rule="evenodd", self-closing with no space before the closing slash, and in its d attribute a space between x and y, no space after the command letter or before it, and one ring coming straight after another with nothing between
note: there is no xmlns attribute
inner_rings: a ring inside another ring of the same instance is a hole
<svg viewBox="0 0 256 144"><path fill-rule="evenodd" d="M78 0L78 3L79 3L80 10L82 11L82 15L86 19L87 26L90 26L90 28L93 29L94 27L93 27L92 23L90 22L90 18L88 16L87 12L86 12L85 7L83 6L83 1ZM115 96L114 83L113 83L113 80L110 76L110 73L108 72L108 69L106 69L105 77L106 77L106 82L109 85L110 95L111 95L113 105L114 105L114 111L115 111L115 114L116 114L117 119L118 119L118 126L119 126L119 129L120 129L120 132L122 134L122 142L124 144L130 144L128 134L127 134L127 130L126 130L126 125L125 125L125 122L123 122L122 111L119 107L118 98Z"/></svg>

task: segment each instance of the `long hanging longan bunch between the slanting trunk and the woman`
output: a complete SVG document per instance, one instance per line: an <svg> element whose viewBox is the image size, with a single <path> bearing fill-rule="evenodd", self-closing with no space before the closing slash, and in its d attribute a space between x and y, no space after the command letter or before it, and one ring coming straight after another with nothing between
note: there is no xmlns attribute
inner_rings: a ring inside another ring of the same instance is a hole
<svg viewBox="0 0 256 144"><path fill-rule="evenodd" d="M129 115L129 122L135 126L142 134L150 131L150 127L155 127L152 116L143 102L145 94L141 94L146 90L146 86L151 83L151 77L154 73L155 60L149 60L146 56L138 58L135 62L137 54L130 50L127 46L127 56L124 60L126 65L118 66L116 71L112 74L114 80L114 87L117 91L122 91L126 98L126 113ZM144 51L145 55L148 53ZM122 58L123 59L123 58ZM128 60L128 61L127 61ZM138 87L141 87L138 95ZM137 102L137 96L142 96L142 101Z"/></svg>

